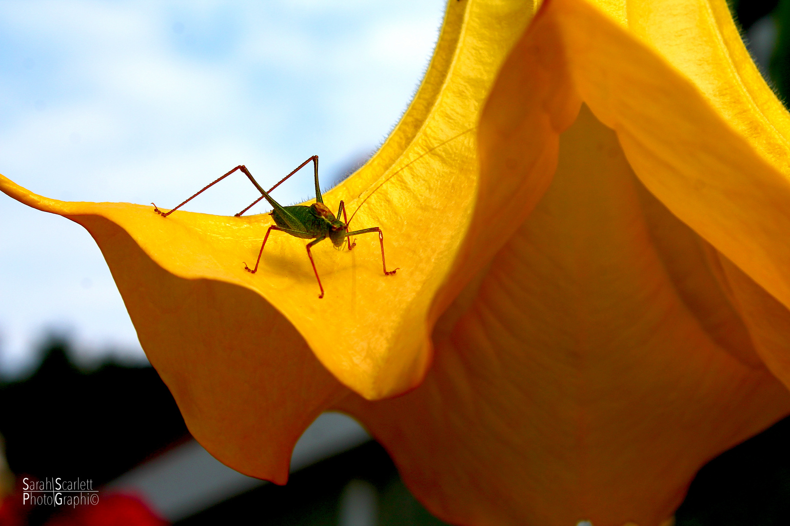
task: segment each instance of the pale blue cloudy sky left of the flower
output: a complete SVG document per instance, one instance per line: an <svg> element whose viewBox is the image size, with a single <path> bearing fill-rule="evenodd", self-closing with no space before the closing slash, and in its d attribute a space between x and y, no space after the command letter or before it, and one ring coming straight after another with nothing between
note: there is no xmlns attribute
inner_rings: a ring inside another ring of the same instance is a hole
<svg viewBox="0 0 790 526"><path fill-rule="evenodd" d="M61 200L167 207L240 163L276 181L318 154L328 187L408 105L443 3L3 2L0 173ZM239 177L187 208L254 198ZM0 194L0 373L32 367L51 331L86 362L145 360L88 233Z"/></svg>

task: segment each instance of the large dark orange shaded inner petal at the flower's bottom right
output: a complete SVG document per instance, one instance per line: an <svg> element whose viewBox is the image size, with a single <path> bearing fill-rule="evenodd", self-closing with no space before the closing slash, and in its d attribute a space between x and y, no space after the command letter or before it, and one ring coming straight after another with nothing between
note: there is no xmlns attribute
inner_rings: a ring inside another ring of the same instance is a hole
<svg viewBox="0 0 790 526"><path fill-rule="evenodd" d="M659 524L702 464L790 412L664 270L615 132L582 110L559 153L468 308L434 334L423 384L339 404L453 523Z"/></svg>

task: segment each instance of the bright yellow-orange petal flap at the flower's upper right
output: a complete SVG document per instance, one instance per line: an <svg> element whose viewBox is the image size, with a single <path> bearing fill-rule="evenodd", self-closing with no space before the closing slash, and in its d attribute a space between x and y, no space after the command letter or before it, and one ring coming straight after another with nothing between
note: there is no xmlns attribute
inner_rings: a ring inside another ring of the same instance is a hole
<svg viewBox="0 0 790 526"><path fill-rule="evenodd" d="M553 0L536 23L561 35L577 90L617 131L650 192L776 298L770 319L779 324L768 339L787 341L790 115L751 62L724 2L601 6ZM739 314L758 355L790 386L781 365L787 348L760 336L767 328L754 323L765 319L748 320L766 301L744 293Z"/></svg>

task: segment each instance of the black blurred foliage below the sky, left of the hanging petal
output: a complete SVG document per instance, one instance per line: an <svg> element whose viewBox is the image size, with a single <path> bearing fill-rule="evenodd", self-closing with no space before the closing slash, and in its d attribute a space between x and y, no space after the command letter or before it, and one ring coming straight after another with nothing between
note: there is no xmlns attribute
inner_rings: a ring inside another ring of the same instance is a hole
<svg viewBox="0 0 790 526"><path fill-rule="evenodd" d="M152 367L103 364L81 371L53 338L36 373L0 386L0 434L18 476L91 479L93 487L189 438L179 408ZM28 526L57 508L36 506Z"/></svg>

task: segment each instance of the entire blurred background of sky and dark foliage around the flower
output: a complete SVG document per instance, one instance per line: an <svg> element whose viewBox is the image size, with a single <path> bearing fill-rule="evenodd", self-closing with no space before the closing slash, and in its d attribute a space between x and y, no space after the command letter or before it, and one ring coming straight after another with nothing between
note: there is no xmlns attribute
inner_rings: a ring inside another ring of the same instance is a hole
<svg viewBox="0 0 790 526"><path fill-rule="evenodd" d="M408 106L443 5L4 1L0 173L61 200L171 207L238 164L266 186L317 154L329 188ZM790 0L731 6L787 100ZM306 200L309 176L276 198ZM186 208L232 215L256 197L245 182L230 177ZM0 524L442 524L386 452L337 414L300 439L285 487L214 461L149 367L88 233L2 194L0 434L0 494L19 494L24 476L81 477L103 503L100 512L3 506ZM788 443L785 420L705 466L678 524L786 524Z"/></svg>

